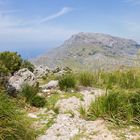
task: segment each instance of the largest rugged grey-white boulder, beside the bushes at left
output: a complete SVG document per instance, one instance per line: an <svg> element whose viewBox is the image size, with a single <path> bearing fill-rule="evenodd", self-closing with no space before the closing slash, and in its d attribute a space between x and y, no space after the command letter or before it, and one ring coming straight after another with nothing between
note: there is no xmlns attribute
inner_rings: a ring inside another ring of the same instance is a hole
<svg viewBox="0 0 140 140"><path fill-rule="evenodd" d="M37 85L37 80L34 74L27 68L20 69L8 80L7 90L9 92L20 91L24 84L30 86Z"/></svg>

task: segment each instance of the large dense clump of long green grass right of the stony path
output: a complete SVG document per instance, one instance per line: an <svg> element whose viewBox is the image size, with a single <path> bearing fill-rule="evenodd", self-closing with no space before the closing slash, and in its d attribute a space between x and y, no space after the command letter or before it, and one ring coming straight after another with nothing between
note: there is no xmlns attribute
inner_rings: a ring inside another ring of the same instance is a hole
<svg viewBox="0 0 140 140"><path fill-rule="evenodd" d="M140 92L125 90L110 91L92 102L86 118L95 120L102 117L115 124L140 125Z"/></svg>

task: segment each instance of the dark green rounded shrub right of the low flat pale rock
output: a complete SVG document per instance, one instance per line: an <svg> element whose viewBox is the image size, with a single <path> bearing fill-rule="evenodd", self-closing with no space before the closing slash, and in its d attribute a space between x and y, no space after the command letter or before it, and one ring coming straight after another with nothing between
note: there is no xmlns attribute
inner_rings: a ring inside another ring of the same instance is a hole
<svg viewBox="0 0 140 140"><path fill-rule="evenodd" d="M59 87L61 90L68 90L76 87L76 79L73 74L67 74L60 78Z"/></svg>

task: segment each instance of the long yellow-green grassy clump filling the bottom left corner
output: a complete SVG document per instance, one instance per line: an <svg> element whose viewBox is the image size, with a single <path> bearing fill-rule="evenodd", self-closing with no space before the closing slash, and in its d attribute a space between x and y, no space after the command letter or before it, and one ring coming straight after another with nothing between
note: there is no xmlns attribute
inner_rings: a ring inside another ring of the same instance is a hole
<svg viewBox="0 0 140 140"><path fill-rule="evenodd" d="M0 139L35 140L31 121L5 93L0 93Z"/></svg>

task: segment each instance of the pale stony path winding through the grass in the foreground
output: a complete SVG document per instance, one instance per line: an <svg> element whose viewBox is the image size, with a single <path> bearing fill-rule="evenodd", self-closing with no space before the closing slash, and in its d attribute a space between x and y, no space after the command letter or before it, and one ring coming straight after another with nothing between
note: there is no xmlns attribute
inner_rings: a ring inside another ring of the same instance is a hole
<svg viewBox="0 0 140 140"><path fill-rule="evenodd" d="M101 89L81 87L80 94L83 96L83 99L80 100L73 96L58 100L55 105L55 107L59 108L58 114L52 110L47 112L45 109L31 113L31 117L38 118L35 126L44 129L44 134L41 134L38 140L140 139L140 131L137 131L139 128L131 126L127 129L118 129L103 119L86 121L80 117L79 107L83 106L86 109L91 101L94 101L97 96L101 96L104 93ZM43 118L42 116L46 117Z"/></svg>

